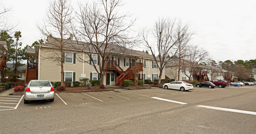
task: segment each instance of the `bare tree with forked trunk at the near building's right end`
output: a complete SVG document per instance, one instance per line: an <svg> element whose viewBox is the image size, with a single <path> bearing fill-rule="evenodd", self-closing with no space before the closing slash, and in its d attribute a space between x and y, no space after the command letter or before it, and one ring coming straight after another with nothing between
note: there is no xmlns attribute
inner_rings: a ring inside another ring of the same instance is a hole
<svg viewBox="0 0 256 134"><path fill-rule="evenodd" d="M185 41L187 34L186 30L187 25L182 26L181 23L176 20L171 21L170 19L158 19L155 23L154 29L152 30L157 51L155 51L155 44L149 43L148 31L143 31L145 46L151 51L160 71L158 83L161 82L163 69L165 68L166 63L171 61L171 57L169 55L175 55L178 52L177 48L174 46L177 45L179 41L181 45L185 44L183 41Z"/></svg>

